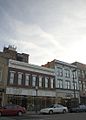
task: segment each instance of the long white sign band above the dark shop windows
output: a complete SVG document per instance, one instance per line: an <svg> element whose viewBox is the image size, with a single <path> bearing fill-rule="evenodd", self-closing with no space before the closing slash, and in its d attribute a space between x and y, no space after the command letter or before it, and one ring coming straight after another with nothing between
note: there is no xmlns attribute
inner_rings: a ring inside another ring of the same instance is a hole
<svg viewBox="0 0 86 120"><path fill-rule="evenodd" d="M47 96L47 97L55 97L56 91L52 90L39 90L37 91L38 96ZM6 94L12 95L28 95L28 96L36 96L35 89L25 89L25 88L14 88L14 87L7 87Z"/></svg>

